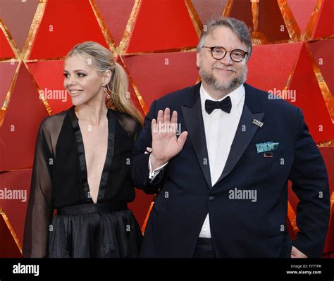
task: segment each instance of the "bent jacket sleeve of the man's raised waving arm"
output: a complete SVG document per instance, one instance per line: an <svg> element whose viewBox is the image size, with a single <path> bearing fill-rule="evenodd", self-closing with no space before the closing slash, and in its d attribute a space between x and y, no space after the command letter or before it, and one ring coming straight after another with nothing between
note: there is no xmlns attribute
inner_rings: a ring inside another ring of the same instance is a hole
<svg viewBox="0 0 334 281"><path fill-rule="evenodd" d="M144 128L132 149L130 175L134 185L144 190L146 194L156 194L163 184L163 175L168 164L149 182L149 154L144 154L152 145L151 120L156 116L156 101L154 101L144 120Z"/></svg>

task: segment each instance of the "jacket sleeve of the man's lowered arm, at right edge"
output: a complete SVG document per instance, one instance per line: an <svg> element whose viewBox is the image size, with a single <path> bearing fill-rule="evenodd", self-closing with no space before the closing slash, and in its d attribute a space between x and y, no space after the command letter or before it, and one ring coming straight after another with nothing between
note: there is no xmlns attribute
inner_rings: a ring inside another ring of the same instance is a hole
<svg viewBox="0 0 334 281"><path fill-rule="evenodd" d="M299 198L296 214L299 232L292 244L310 258L321 257L330 216L328 175L299 109L294 151L289 180Z"/></svg>

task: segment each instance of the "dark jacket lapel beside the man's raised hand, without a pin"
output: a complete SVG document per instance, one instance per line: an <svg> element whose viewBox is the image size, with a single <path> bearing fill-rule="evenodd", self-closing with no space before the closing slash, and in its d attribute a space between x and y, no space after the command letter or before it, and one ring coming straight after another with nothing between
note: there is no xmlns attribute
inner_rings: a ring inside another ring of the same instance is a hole
<svg viewBox="0 0 334 281"><path fill-rule="evenodd" d="M199 166L202 169L208 187L211 188L211 175L209 167L209 156L206 149L204 122L202 115L199 88L201 83L194 86L194 92L190 96L189 103L181 106L185 127L192 142Z"/></svg>

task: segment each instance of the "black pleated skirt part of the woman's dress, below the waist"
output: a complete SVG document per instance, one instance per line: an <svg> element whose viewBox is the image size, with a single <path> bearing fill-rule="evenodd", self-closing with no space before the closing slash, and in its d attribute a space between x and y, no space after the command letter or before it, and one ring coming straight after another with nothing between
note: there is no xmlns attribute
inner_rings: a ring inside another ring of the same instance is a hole
<svg viewBox="0 0 334 281"><path fill-rule="evenodd" d="M99 208L101 207L101 208ZM49 226L49 258L136 258L142 233L128 208L85 204L58 210Z"/></svg>

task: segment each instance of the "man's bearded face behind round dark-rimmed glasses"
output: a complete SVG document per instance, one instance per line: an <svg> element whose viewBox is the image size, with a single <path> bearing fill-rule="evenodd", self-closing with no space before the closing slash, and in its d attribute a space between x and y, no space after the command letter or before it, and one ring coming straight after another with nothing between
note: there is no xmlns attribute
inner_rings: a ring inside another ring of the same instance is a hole
<svg viewBox="0 0 334 281"><path fill-rule="evenodd" d="M226 51L241 49L248 51L247 46L228 27L216 27L206 37L204 46L222 46ZM247 58L247 57L246 57ZM211 49L203 48L197 53L197 67L202 81L216 91L232 92L242 85L247 76L246 58L235 63L228 52L221 60L211 56Z"/></svg>

